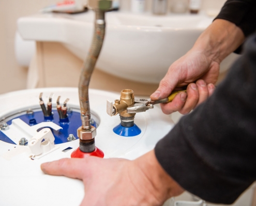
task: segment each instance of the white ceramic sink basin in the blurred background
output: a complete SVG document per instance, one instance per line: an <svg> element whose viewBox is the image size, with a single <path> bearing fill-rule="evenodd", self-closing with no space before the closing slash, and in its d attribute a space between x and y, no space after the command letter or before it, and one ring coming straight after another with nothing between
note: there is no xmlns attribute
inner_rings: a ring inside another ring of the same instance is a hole
<svg viewBox="0 0 256 206"><path fill-rule="evenodd" d="M108 12L107 32L97 68L122 78L159 83L168 67L186 54L201 32L213 21L204 14L155 16ZM85 59L93 35L94 12L36 14L18 20L26 40L63 43ZM222 62L221 72L236 58Z"/></svg>

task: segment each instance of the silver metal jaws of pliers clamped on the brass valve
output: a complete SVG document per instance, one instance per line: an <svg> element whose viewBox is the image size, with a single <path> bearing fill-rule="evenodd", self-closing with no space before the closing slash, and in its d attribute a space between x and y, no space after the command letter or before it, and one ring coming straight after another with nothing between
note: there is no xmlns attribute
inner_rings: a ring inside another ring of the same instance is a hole
<svg viewBox="0 0 256 206"><path fill-rule="evenodd" d="M134 99L134 105L127 108L127 113L145 112L146 110L153 108L154 106L151 104L151 99Z"/></svg>

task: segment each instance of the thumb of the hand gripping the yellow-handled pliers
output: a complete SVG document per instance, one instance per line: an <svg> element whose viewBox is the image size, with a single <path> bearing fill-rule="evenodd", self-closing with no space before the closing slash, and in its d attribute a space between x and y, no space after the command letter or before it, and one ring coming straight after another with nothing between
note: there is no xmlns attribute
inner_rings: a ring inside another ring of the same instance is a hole
<svg viewBox="0 0 256 206"><path fill-rule="evenodd" d="M154 100L168 97L176 87L177 83L178 78L176 75L165 75L165 77L160 81L158 89L150 95L150 99Z"/></svg>

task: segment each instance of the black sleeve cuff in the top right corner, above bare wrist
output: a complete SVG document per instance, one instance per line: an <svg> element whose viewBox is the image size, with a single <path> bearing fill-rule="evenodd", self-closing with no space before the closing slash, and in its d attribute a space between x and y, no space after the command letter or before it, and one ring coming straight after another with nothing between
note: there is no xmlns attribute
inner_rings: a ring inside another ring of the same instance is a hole
<svg viewBox="0 0 256 206"><path fill-rule="evenodd" d="M256 1L255 0L228 0L215 19L224 19L234 23L248 37L256 30ZM235 53L239 54L242 47Z"/></svg>

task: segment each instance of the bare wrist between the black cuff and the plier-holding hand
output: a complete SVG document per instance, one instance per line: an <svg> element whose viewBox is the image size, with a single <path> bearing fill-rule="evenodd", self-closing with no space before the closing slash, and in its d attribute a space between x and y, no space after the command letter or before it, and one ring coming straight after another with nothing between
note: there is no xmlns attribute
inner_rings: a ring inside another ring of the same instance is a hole
<svg viewBox="0 0 256 206"><path fill-rule="evenodd" d="M192 50L204 53L208 61L220 63L243 43L242 29L234 23L217 19L198 38Z"/></svg>

